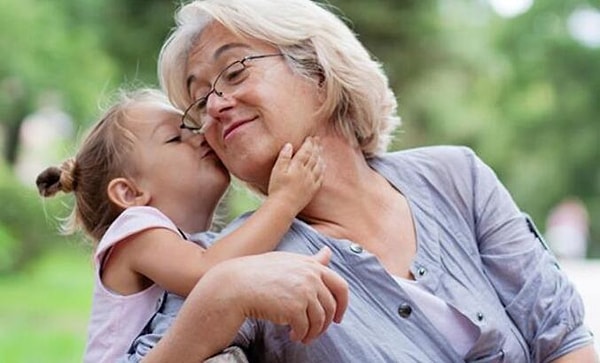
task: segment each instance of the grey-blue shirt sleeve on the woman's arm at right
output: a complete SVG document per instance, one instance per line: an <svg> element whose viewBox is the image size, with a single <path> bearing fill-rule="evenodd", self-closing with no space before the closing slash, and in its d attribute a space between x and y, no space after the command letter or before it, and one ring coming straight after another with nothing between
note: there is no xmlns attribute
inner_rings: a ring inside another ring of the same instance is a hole
<svg viewBox="0 0 600 363"><path fill-rule="evenodd" d="M592 343L583 325L583 301L494 172L467 153L474 230L486 276L535 361Z"/></svg>

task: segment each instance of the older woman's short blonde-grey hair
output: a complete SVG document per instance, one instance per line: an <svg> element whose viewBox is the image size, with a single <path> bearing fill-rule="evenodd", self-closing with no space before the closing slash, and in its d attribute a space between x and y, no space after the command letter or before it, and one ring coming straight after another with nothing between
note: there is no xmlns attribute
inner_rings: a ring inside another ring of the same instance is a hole
<svg viewBox="0 0 600 363"><path fill-rule="evenodd" d="M320 116L366 157L386 151L400 118L381 64L340 18L310 0L196 0L181 7L158 61L160 84L177 107L193 101L188 54L212 21L278 48L292 69L324 88Z"/></svg>

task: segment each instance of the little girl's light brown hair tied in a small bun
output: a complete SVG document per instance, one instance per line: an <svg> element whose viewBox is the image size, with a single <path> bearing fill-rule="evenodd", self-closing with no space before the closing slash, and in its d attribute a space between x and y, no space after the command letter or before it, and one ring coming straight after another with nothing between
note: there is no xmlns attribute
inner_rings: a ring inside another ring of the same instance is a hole
<svg viewBox="0 0 600 363"><path fill-rule="evenodd" d="M130 162L136 136L128 114L142 103L181 114L158 90L121 90L116 103L91 128L77 155L37 177L39 193L44 197L58 192L75 195L72 213L63 224L66 234L82 229L97 243L122 212L108 198L107 188L112 179L131 177L136 171L135 163Z"/></svg>

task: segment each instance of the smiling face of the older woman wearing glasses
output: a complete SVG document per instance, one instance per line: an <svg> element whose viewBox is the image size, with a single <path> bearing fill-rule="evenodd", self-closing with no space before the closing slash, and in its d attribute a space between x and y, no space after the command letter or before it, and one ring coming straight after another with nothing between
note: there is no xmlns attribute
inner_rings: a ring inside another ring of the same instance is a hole
<svg viewBox="0 0 600 363"><path fill-rule="evenodd" d="M219 73L247 56L277 54L278 49L240 38L222 25L209 25L188 58L188 91L205 96ZM273 163L286 142L294 149L325 122L317 120L317 83L292 72L283 56L244 62L246 75L231 82L221 95L213 92L204 112L206 139L225 166L238 178L265 192ZM235 75L231 75L232 77ZM217 90L222 82L220 76Z"/></svg>

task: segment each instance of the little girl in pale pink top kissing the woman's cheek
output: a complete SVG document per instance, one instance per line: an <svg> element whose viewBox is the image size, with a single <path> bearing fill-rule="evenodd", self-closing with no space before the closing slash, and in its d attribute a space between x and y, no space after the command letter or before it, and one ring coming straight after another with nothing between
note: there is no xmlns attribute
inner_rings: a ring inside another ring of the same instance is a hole
<svg viewBox="0 0 600 363"><path fill-rule="evenodd" d="M74 193L68 230L81 227L95 242L86 362L125 354L165 290L186 296L215 264L272 250L321 184L317 142L307 139L293 157L287 144L268 197L247 223L210 248L190 243L211 226L230 177L204 136L180 120L159 91L123 94L74 159L37 178L44 197Z"/></svg>

